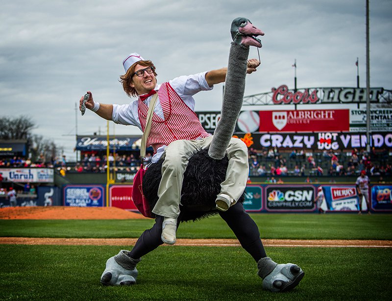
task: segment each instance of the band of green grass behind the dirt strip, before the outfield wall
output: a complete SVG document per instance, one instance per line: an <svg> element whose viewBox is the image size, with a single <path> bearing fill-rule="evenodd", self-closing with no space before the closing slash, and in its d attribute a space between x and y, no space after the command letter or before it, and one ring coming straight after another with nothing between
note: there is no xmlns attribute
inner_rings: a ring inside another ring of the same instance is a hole
<svg viewBox="0 0 392 301"><path fill-rule="evenodd" d="M392 240L392 215L252 214L262 238ZM153 219L4 220L0 237L137 238ZM181 224L178 238L235 238L219 217Z"/></svg>

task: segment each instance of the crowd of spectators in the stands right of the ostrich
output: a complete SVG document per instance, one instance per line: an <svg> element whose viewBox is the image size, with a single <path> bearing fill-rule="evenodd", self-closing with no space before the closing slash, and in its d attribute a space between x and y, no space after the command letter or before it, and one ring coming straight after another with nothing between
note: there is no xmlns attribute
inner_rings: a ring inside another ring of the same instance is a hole
<svg viewBox="0 0 392 301"><path fill-rule="evenodd" d="M277 148L249 150L250 176L351 176L365 170L368 175L390 176L392 167L389 151L370 153L354 148L351 151L324 151L314 153L305 150L279 152Z"/></svg>

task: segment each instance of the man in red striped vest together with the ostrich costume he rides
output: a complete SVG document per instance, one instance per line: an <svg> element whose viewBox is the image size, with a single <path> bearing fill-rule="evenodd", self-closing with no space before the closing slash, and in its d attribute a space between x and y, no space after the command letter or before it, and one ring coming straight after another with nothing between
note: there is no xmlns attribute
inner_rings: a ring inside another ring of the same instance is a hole
<svg viewBox="0 0 392 301"><path fill-rule="evenodd" d="M261 47L257 35L264 33L246 18L232 22L233 42L228 67L176 78L156 86L155 67L138 54L124 59L124 91L139 100L129 105L94 102L91 92L87 109L116 123L146 127L149 101L158 94L147 145L154 156L143 179L143 192L152 209L155 224L140 236L132 250L121 250L109 258L101 275L104 285L136 283L141 257L163 243L174 244L181 221L219 214L254 258L263 288L274 292L293 289L304 272L297 265L277 264L267 257L256 223L242 204L248 176L245 143L232 138L242 108L245 76L260 62L247 60L249 46ZM193 95L225 82L221 119L213 136L202 128L194 112ZM155 90L158 91L155 91ZM83 97L80 99L83 111Z"/></svg>

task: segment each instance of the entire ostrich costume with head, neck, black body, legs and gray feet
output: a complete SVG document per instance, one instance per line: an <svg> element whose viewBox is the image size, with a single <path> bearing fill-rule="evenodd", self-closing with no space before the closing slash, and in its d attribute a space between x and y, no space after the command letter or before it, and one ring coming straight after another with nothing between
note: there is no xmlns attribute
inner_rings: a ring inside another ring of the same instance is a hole
<svg viewBox="0 0 392 301"><path fill-rule="evenodd" d="M215 210L216 195L220 192L220 184L225 179L228 166L228 159L224 154L242 107L249 46L261 47L260 41L254 36L264 34L261 30L253 27L250 21L245 18L237 18L233 21L231 33L234 43L230 48L221 120L210 147L196 153L189 159L184 174L181 213L177 224L180 221L199 219L217 213ZM162 162L163 160L148 167L144 176L143 191L151 208L158 199L157 191L161 179L159 175ZM245 213L240 202L235 203L226 212L219 212L219 214L234 231L244 249L256 260L259 269L258 275L263 278L264 289L285 292L293 289L299 283L304 275L300 267L291 263L278 265L270 257L267 257L260 240L258 227ZM162 216L157 216L154 226L143 232L131 251L121 250L119 254L106 261L106 268L100 279L103 285L136 283L137 263L140 262L143 255L162 244L160 241L162 220ZM253 233L249 235L248 232ZM245 236L246 239L243 239L242 236ZM253 239L253 242L249 244L248 238Z"/></svg>

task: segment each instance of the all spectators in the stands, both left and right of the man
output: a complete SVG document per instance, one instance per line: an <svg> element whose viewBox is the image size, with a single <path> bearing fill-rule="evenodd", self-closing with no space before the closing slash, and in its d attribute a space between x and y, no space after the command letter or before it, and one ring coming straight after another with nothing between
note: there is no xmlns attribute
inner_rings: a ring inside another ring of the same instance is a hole
<svg viewBox="0 0 392 301"><path fill-rule="evenodd" d="M144 164L151 162L152 154L147 153ZM116 154L108 156L109 166L118 171L136 173L140 168L139 154ZM359 175L365 170L369 176L391 176L391 164L387 149L376 151L373 147L370 153L364 149L347 151L323 151L312 152L304 149L292 150L291 152L279 151L276 147L270 149L249 149L249 176L268 177L270 183L283 182L285 176L351 176ZM32 162L29 158L10 157L0 159L0 168L19 167L47 167L56 168L60 174L66 172L106 172L106 154L84 153L78 162L68 162L66 156L49 160L43 156Z"/></svg>

